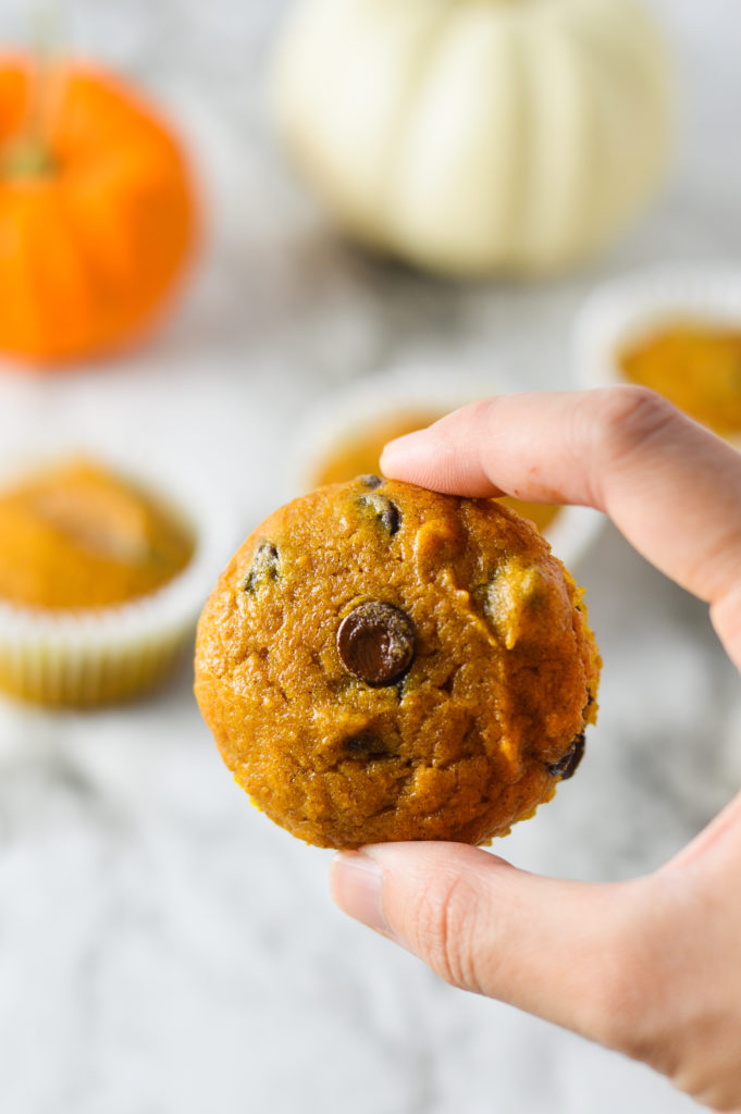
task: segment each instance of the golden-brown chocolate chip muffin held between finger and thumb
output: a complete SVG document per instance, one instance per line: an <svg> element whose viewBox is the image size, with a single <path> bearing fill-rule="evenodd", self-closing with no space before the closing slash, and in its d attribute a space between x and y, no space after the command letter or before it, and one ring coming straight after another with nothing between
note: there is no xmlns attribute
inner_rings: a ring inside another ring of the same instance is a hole
<svg viewBox="0 0 741 1114"><path fill-rule="evenodd" d="M196 695L238 784L306 842L484 843L576 770L599 665L529 522L364 476L240 549L201 617Z"/></svg>

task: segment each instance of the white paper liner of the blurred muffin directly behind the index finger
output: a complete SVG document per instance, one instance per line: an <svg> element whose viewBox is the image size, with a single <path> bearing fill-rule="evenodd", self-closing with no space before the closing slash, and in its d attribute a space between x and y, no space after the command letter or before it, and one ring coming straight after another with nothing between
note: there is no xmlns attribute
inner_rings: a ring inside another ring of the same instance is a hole
<svg viewBox="0 0 741 1114"><path fill-rule="evenodd" d="M439 365L413 364L359 380L311 407L301 423L290 462L286 498L313 485L321 462L353 434L364 433L377 422L399 412L440 410L449 412L513 388L494 371L465 371ZM589 507L562 507L543 531L553 551L568 568L585 556L605 518Z"/></svg>

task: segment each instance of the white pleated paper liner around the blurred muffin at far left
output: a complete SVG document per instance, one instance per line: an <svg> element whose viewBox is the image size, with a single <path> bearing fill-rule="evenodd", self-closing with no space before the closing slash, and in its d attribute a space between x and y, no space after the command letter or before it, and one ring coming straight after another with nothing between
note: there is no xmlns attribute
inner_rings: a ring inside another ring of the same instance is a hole
<svg viewBox="0 0 741 1114"><path fill-rule="evenodd" d="M0 488L55 461L86 457L162 499L191 529L188 565L156 592L96 609L32 609L0 602L0 690L49 706L123 701L160 681L192 641L208 593L235 544L231 508L173 467L152 470L75 444L0 463Z"/></svg>

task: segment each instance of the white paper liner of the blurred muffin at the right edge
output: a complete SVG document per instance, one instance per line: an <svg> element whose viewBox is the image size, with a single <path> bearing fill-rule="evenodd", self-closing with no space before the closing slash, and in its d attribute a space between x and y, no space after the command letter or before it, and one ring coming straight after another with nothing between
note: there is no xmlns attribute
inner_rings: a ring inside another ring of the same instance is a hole
<svg viewBox="0 0 741 1114"><path fill-rule="evenodd" d="M574 322L578 385L589 390L625 383L621 350L682 321L741 330L741 268L723 263L661 265L599 286Z"/></svg>

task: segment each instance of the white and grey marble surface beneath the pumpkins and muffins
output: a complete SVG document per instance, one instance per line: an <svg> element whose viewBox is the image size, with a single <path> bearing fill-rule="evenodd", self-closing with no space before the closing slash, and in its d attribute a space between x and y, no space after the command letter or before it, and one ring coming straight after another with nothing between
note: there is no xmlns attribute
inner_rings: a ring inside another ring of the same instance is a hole
<svg viewBox="0 0 741 1114"><path fill-rule="evenodd" d="M683 124L653 212L558 283L455 287L328 233L265 117L282 2L70 2L68 35L165 102L211 219L197 274L152 343L64 379L0 368L0 444L60 436L146 458L156 440L221 485L237 532L283 497L286 441L338 383L430 360L568 385L569 328L602 278L738 258L741 9L654 0ZM0 30L23 33L3 0ZM226 557L226 555L225 555ZM706 610L607 528L584 559L605 674L578 779L498 850L618 879L679 849L741 782L741 683ZM252 810L184 666L126 710L0 704L0 1105L9 1114L679 1114L646 1069L456 991L343 918L330 856ZM544 940L547 947L547 940Z"/></svg>

